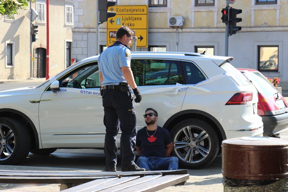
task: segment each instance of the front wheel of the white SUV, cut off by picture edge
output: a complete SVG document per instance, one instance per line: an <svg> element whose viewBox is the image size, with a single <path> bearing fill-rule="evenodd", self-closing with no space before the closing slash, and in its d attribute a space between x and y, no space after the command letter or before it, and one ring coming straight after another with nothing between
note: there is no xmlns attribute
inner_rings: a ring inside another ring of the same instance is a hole
<svg viewBox="0 0 288 192"><path fill-rule="evenodd" d="M13 117L0 117L0 164L15 165L22 162L30 150L27 127Z"/></svg>

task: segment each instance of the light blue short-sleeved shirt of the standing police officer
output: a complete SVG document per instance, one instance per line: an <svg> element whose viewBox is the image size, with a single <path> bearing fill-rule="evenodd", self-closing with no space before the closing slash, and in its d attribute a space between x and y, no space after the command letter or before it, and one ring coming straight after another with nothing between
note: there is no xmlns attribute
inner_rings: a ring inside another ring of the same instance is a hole
<svg viewBox="0 0 288 192"><path fill-rule="evenodd" d="M106 48L98 58L99 71L102 71L103 75L102 86L126 82L121 67L130 67L130 62L130 49L121 42L116 41Z"/></svg>

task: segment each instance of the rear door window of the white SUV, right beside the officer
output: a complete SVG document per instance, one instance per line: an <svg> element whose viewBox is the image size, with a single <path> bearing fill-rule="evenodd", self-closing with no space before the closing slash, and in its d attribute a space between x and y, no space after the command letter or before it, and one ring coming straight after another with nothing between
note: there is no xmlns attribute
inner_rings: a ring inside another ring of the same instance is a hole
<svg viewBox="0 0 288 192"><path fill-rule="evenodd" d="M183 83L180 61L177 60L132 59L131 70L137 86Z"/></svg>

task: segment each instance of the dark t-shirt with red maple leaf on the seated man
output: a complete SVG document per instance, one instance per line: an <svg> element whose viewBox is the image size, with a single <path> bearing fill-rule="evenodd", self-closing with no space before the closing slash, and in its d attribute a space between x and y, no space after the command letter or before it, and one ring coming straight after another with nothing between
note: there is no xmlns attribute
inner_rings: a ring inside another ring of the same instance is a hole
<svg viewBox="0 0 288 192"><path fill-rule="evenodd" d="M141 149L141 156L146 157L166 157L165 149L166 145L172 142L170 133L167 129L162 127L157 128L156 132L146 130L147 127L143 127L138 130L136 135L136 146ZM148 136L154 135L153 136Z"/></svg>

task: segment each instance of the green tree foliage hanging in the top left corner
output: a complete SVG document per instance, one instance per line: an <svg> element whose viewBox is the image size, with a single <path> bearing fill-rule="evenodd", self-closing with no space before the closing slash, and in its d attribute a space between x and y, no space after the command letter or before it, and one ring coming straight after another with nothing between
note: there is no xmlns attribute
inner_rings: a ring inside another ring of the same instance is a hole
<svg viewBox="0 0 288 192"><path fill-rule="evenodd" d="M28 2L36 0L0 0L0 15L5 15L7 19L14 19L19 10L27 10Z"/></svg>

